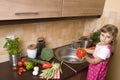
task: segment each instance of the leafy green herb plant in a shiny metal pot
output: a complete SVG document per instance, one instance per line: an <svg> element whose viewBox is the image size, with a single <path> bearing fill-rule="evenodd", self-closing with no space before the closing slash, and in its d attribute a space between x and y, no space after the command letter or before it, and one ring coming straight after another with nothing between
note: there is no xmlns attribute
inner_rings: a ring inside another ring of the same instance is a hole
<svg viewBox="0 0 120 80"><path fill-rule="evenodd" d="M6 42L4 48L9 53L10 63L12 66L17 66L17 61L20 59L20 48L19 48L19 38L15 36L6 37Z"/></svg>

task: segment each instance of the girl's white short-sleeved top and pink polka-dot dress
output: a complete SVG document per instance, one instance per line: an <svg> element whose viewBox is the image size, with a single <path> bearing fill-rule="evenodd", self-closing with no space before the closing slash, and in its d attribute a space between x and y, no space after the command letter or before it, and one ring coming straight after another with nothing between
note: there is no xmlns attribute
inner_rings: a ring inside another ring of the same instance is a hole
<svg viewBox="0 0 120 80"><path fill-rule="evenodd" d="M101 46L99 43L96 45L93 58L97 56L103 60L97 64L89 64L86 80L105 80L111 54L111 45Z"/></svg>

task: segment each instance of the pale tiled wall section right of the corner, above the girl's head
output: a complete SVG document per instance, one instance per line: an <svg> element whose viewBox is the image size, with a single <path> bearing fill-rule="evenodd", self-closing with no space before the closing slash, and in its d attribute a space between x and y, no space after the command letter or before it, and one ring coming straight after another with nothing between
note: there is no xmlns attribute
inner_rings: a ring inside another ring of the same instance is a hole
<svg viewBox="0 0 120 80"><path fill-rule="evenodd" d="M85 21L84 35L89 35L92 31L96 31L105 24L114 24L120 27L120 13L104 11L101 18L87 19ZM120 28L119 28L120 29Z"/></svg>

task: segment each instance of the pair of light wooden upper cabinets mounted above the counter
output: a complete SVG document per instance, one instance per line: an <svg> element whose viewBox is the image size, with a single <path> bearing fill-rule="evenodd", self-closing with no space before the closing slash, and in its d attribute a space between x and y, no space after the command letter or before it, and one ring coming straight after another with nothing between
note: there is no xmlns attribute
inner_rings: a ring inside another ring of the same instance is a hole
<svg viewBox="0 0 120 80"><path fill-rule="evenodd" d="M0 20L101 15L105 0L0 0Z"/></svg>

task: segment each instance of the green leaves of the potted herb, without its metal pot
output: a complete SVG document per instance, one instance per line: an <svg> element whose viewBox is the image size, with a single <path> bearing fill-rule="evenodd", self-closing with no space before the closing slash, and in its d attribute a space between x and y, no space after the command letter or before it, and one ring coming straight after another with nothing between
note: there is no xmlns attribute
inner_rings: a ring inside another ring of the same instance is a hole
<svg viewBox="0 0 120 80"><path fill-rule="evenodd" d="M6 38L6 43L4 44L4 48L7 49L10 55L16 55L20 53L19 48L19 38Z"/></svg>

